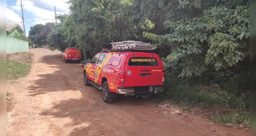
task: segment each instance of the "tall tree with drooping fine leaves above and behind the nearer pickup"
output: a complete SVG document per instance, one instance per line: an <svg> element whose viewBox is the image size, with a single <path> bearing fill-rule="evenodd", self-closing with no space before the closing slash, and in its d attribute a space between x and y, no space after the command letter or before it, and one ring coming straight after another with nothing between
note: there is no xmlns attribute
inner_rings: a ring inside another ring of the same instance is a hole
<svg viewBox="0 0 256 136"><path fill-rule="evenodd" d="M133 0L69 0L70 19L77 47L84 55L93 56L110 43L139 37L140 29L154 28L147 18L137 19L133 15ZM64 21L65 22L65 21ZM95 46L96 45L96 46Z"/></svg>

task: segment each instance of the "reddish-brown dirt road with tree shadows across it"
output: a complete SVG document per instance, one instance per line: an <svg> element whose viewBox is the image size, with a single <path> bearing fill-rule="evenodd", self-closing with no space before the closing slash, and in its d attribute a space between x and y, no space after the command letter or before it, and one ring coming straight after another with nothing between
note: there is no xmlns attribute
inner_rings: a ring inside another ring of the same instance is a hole
<svg viewBox="0 0 256 136"><path fill-rule="evenodd" d="M100 90L84 86L80 64L65 64L58 51L30 52L35 61L27 77L7 85L16 98L7 113L8 136L249 135L146 99L121 97L105 103Z"/></svg>

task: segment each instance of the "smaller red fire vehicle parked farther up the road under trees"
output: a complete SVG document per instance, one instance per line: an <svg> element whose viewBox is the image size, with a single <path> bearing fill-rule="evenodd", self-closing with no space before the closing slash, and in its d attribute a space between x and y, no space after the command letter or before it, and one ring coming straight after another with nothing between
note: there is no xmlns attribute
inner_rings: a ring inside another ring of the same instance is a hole
<svg viewBox="0 0 256 136"><path fill-rule="evenodd" d="M82 54L78 52L78 48L67 47L62 53L62 60L65 61L65 63L68 63L68 61L80 62L82 60Z"/></svg>

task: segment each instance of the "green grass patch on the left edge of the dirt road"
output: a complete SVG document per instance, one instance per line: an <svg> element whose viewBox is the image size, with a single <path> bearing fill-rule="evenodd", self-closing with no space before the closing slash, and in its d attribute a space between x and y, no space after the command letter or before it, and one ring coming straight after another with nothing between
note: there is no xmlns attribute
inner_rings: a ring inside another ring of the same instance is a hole
<svg viewBox="0 0 256 136"><path fill-rule="evenodd" d="M17 80L25 77L31 67L30 63L22 63L17 61L7 60L6 63L6 79Z"/></svg>

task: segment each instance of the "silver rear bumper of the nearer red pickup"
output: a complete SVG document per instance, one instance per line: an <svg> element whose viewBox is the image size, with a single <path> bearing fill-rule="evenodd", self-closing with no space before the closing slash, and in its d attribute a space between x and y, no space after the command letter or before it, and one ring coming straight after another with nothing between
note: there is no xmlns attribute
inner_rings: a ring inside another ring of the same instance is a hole
<svg viewBox="0 0 256 136"><path fill-rule="evenodd" d="M128 96L158 94L161 91L164 91L164 86L149 86L147 91L138 91L135 87L117 87L117 94Z"/></svg>

